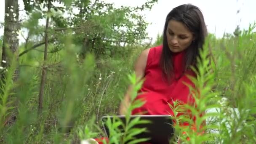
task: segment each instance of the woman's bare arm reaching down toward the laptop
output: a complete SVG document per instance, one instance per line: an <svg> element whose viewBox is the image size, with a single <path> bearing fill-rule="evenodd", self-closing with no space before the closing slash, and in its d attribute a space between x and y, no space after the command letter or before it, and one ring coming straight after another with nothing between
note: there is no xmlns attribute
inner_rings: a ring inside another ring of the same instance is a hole
<svg viewBox="0 0 256 144"><path fill-rule="evenodd" d="M141 81L145 75L145 68L147 65L148 53L149 53L149 48L143 50L134 64L134 71L135 71L136 78L138 80L137 83L139 81ZM130 94L131 94L132 90L133 90L133 88L130 85L128 87L127 92L125 93L123 101L120 104L120 107L119 107L120 115L125 115L125 113L127 111L128 104L131 103Z"/></svg>

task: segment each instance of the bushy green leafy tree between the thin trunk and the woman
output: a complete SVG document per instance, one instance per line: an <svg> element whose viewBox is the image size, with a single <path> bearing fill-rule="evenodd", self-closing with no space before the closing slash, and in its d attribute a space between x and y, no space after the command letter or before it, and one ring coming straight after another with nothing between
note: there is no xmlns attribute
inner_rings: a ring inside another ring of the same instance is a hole
<svg viewBox="0 0 256 144"><path fill-rule="evenodd" d="M138 12L151 9L157 0L147 0L138 7L114 8L104 0L73 0L67 18L69 27L76 27L74 42L81 46L81 57L93 52L114 56L125 45L135 45L147 39L147 21ZM73 9L78 9L75 13Z"/></svg>

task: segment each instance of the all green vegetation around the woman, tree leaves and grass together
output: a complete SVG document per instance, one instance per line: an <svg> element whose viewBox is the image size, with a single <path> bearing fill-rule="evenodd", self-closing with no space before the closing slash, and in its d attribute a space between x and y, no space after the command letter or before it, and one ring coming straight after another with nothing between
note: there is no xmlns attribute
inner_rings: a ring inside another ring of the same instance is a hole
<svg viewBox="0 0 256 144"><path fill-rule="evenodd" d="M139 53L160 45L162 37L150 45L141 45L147 38L147 22L139 14L151 8L156 0L138 7L114 8L103 0L51 0L51 13L46 13L46 0L24 0L29 19L21 27L29 30L26 42L20 45L19 61L10 61L7 77L0 94L0 142L2 143L79 143L81 140L104 137L101 117L117 115L118 105L127 86L135 85L133 99L142 83L136 84L133 62ZM75 12L78 11L78 12ZM64 14L65 13L65 14ZM40 21L51 16L49 29L47 80L43 113L37 115L45 26ZM255 143L256 117L256 33L255 24L239 35L228 34L217 39L209 35L201 51L198 77L192 80L194 105L174 102L174 120L178 125L175 137L181 143ZM237 30L236 30L237 31ZM1 42L1 40L0 40ZM209 64L211 47L216 63ZM19 63L19 79L12 81ZM213 70L210 71L209 69ZM127 75L129 76L127 79ZM200 92L197 93L197 90ZM14 97L17 99L16 102ZM18 115L13 118L15 104ZM142 103L130 105L129 112ZM179 112L189 110L197 116ZM202 112L206 114L199 117ZM134 140L145 129L134 125L146 123L139 118L127 123L107 121L111 130L110 143ZM181 127L180 122L191 125ZM206 125L203 125L206 121ZM195 124L195 130L192 125ZM203 127L199 128L199 125ZM120 132L117 128L125 129ZM204 131L204 134L198 134ZM185 132L185 133L184 133ZM187 139L189 137L189 141ZM142 139L141 141L144 141ZM173 139L172 143L176 143Z"/></svg>

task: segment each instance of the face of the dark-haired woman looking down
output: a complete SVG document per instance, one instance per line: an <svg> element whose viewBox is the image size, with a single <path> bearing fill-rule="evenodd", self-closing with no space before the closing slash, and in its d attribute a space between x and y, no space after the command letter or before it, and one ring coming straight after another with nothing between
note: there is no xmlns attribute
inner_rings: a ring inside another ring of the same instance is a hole
<svg viewBox="0 0 256 144"><path fill-rule="evenodd" d="M195 40L193 33L184 24L175 20L169 21L166 36L173 53L184 51Z"/></svg>

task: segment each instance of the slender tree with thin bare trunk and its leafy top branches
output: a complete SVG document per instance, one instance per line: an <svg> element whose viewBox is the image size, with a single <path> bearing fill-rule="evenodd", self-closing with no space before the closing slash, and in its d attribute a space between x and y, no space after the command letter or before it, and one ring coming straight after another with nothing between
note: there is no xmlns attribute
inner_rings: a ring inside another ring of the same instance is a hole
<svg viewBox="0 0 256 144"><path fill-rule="evenodd" d="M43 37L43 42L36 44L32 46L32 48L26 49L24 52L20 54L23 55L24 53L27 53L28 51L35 49L37 46L44 45L44 56L43 56L43 68L42 68L42 75L41 75L41 82L40 82L40 90L39 90L39 96L38 96L38 116L40 116L42 110L43 110L43 98L44 98L44 89L45 89L45 81L47 80L47 53L48 53L48 44L52 42L53 40L49 40L49 33L51 30L51 24L50 24L50 18L53 19L53 21L57 21L58 18L53 15L51 12L51 8L54 8L55 11L58 9L63 10L62 7L56 7L53 5L54 2L61 2L59 0L39 0L39 1L31 1L31 0L23 0L25 5L25 10L27 11L27 14L30 15L30 18L28 21L25 21L23 23L23 26L29 30L29 36L31 35L38 35L40 34ZM47 8L46 11L43 10L43 8ZM34 10L34 11L33 11ZM37 29L38 27L38 20L46 18L46 24L45 28L43 29ZM26 39L26 44L29 41L29 36Z"/></svg>

